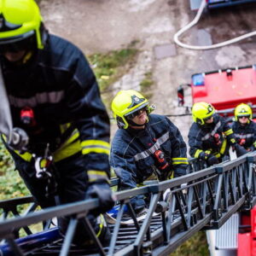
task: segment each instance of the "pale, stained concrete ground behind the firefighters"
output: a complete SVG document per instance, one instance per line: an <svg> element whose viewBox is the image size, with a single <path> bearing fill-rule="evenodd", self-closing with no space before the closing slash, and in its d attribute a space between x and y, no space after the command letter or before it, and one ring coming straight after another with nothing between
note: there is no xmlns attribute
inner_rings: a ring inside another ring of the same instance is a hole
<svg viewBox="0 0 256 256"><path fill-rule="evenodd" d="M121 49L139 40L137 63L117 83L119 89L139 89L144 73L153 72L155 113L177 114L178 84L190 82L192 73L255 63L255 38L220 49L190 50L174 46L165 57L156 47L173 45L173 35L195 16L189 0L42 0L42 14L49 31L79 45L86 55ZM255 28L256 4L205 11L197 26L183 36L189 44L216 44ZM187 103L191 105L189 90ZM191 117L171 118L187 140ZM112 134L116 127L113 126Z"/></svg>

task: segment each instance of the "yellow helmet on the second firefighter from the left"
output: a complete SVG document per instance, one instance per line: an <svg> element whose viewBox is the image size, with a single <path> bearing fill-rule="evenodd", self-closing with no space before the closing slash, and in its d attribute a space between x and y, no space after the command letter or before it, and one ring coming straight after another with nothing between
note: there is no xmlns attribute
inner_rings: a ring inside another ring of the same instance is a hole
<svg viewBox="0 0 256 256"><path fill-rule="evenodd" d="M132 114L142 108L146 108L148 111L148 100L136 90L120 90L114 96L111 108L119 128L127 129L129 126L127 117L128 119L129 116L132 118Z"/></svg>

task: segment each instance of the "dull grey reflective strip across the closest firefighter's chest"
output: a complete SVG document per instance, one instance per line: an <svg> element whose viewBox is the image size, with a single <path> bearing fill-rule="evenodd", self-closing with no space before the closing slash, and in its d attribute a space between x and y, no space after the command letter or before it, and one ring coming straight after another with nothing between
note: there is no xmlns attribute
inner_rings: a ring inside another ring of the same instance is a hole
<svg viewBox="0 0 256 256"><path fill-rule="evenodd" d="M64 90L41 92L30 98L20 98L9 96L9 102L16 108L24 108L26 106L35 107L39 104L58 103L64 98Z"/></svg>

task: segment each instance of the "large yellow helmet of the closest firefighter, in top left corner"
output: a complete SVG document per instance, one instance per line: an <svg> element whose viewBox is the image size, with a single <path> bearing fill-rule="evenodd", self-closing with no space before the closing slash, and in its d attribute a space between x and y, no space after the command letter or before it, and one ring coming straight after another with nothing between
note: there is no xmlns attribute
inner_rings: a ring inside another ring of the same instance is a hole
<svg viewBox="0 0 256 256"><path fill-rule="evenodd" d="M0 49L35 38L38 49L44 48L44 26L34 0L0 0Z"/></svg>

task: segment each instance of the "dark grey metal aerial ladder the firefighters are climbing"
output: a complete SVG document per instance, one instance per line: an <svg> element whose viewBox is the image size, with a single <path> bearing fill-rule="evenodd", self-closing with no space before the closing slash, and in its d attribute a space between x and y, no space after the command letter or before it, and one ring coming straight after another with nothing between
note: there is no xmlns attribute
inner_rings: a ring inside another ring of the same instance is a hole
<svg viewBox="0 0 256 256"><path fill-rule="evenodd" d="M189 160L186 176L117 192L120 207L116 223L108 224L112 233L108 247L97 240L86 217L91 209L99 207L96 199L37 212L32 197L1 201L0 255L167 255L199 230L218 230L236 212L249 214L256 202L255 163L256 153L207 168L193 159ZM112 180L113 186L118 184L117 178ZM166 190L169 193L164 197ZM137 221L130 203L135 195L150 195L148 213L141 221ZM25 203L31 205L19 215L17 209ZM9 218L12 214L15 218ZM73 217L63 239L52 220L67 215ZM72 243L79 218L85 219L95 241L91 248ZM30 226L38 223L44 230L32 234ZM27 236L19 238L20 230Z"/></svg>

